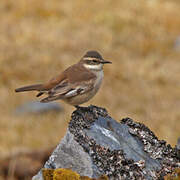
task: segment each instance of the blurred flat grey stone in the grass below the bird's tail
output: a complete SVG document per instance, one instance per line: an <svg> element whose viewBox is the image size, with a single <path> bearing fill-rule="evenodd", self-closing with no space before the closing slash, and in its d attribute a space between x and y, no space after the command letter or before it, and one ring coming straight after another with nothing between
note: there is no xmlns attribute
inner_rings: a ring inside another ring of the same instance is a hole
<svg viewBox="0 0 180 180"><path fill-rule="evenodd" d="M27 102L16 108L16 114L38 114L38 113L46 113L46 112L60 112L62 111L62 107L59 103L50 102L50 103L40 103L38 101Z"/></svg>

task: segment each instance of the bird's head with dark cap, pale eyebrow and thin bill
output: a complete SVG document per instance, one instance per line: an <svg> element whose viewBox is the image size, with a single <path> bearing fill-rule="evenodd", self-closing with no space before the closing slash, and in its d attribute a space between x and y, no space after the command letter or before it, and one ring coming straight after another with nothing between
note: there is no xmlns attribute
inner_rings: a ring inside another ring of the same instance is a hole
<svg viewBox="0 0 180 180"><path fill-rule="evenodd" d="M87 69L98 71L102 70L104 64L110 64L112 62L104 60L97 51L88 51L82 57L81 63L83 63Z"/></svg>

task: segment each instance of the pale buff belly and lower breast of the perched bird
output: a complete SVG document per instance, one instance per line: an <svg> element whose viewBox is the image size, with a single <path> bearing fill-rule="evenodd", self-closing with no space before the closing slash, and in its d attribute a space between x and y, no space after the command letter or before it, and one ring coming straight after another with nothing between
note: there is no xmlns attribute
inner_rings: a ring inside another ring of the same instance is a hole
<svg viewBox="0 0 180 180"><path fill-rule="evenodd" d="M87 101L89 101L99 90L102 80L103 80L103 72L100 72L101 74L98 75L96 82L94 84L94 88L91 91L88 91L84 94L80 94L68 99L63 99L66 103L71 104L73 106L83 104Z"/></svg>

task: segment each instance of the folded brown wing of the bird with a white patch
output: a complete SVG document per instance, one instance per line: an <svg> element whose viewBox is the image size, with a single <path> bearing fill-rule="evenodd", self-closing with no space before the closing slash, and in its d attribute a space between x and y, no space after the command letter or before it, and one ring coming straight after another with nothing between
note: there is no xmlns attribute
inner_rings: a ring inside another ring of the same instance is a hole
<svg viewBox="0 0 180 180"><path fill-rule="evenodd" d="M96 76L86 69L78 69L71 66L64 72L64 78L48 91L49 96L41 102L49 102L56 99L70 98L78 94L86 93L93 89ZM72 74L73 73L73 74Z"/></svg>

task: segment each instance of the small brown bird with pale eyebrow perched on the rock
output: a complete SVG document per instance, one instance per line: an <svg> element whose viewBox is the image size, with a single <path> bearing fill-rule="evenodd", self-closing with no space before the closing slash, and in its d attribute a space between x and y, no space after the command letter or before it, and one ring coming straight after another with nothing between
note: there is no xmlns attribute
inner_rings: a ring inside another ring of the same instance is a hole
<svg viewBox="0 0 180 180"><path fill-rule="evenodd" d="M99 52L87 51L78 63L48 82L20 87L15 92L38 91L36 97L47 95L40 100L42 103L60 99L78 108L98 92L104 77L103 66L111 63L103 59Z"/></svg>

